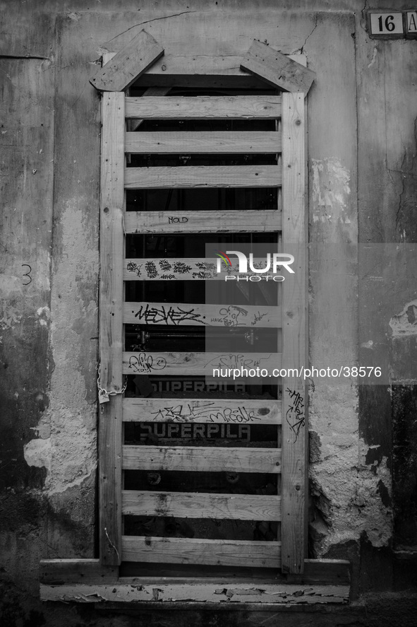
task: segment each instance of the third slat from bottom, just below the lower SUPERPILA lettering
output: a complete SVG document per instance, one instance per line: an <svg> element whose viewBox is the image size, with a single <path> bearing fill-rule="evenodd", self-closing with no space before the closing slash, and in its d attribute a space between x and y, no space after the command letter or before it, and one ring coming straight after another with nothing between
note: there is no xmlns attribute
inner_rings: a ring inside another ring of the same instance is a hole
<svg viewBox="0 0 417 627"><path fill-rule="evenodd" d="M124 445L124 470L281 472L281 449Z"/></svg>

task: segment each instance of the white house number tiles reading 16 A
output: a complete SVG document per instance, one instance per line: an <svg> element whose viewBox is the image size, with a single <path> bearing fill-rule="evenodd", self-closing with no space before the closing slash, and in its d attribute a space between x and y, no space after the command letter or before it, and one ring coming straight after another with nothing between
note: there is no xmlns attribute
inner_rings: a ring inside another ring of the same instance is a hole
<svg viewBox="0 0 417 627"><path fill-rule="evenodd" d="M368 20L371 37L417 37L417 11L369 11Z"/></svg>

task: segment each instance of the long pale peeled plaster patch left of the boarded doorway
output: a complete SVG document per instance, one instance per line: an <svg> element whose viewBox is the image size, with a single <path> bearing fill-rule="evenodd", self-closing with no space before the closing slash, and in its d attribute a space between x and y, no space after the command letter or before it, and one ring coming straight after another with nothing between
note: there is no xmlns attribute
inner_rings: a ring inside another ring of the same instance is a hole
<svg viewBox="0 0 417 627"><path fill-rule="evenodd" d="M49 407L34 428L38 438L24 450L30 466L47 468L50 496L82 484L97 465L97 407L87 389L97 364L86 361L85 344L97 335L97 303L90 299L98 259L86 219L85 211L68 204L59 224L65 254L54 267ZM40 307L37 316L46 324L48 308Z"/></svg>

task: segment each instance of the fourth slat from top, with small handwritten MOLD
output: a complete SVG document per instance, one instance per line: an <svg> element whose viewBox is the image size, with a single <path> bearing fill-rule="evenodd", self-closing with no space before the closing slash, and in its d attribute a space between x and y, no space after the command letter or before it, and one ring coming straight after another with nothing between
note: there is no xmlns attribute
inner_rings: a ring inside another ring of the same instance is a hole
<svg viewBox="0 0 417 627"><path fill-rule="evenodd" d="M236 219L235 219L236 218ZM271 233L282 213L267 211L126 211L125 233Z"/></svg>

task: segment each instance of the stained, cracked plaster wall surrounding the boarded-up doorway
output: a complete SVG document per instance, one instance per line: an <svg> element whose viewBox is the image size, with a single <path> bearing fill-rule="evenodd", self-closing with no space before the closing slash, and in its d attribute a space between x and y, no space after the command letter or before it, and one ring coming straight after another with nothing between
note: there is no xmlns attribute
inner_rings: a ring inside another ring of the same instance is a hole
<svg viewBox="0 0 417 627"><path fill-rule="evenodd" d="M88 78L104 42L122 45L144 27L179 55L238 56L267 40L306 54L317 74L308 97L310 358L363 358L390 378L310 385L310 555L350 559L356 595L416 585L413 561L399 557L417 549L417 283L404 247L417 238L417 42L370 40L362 9L354 0L3 3L7 624L122 624L40 604L37 564L96 551L100 129Z"/></svg>

